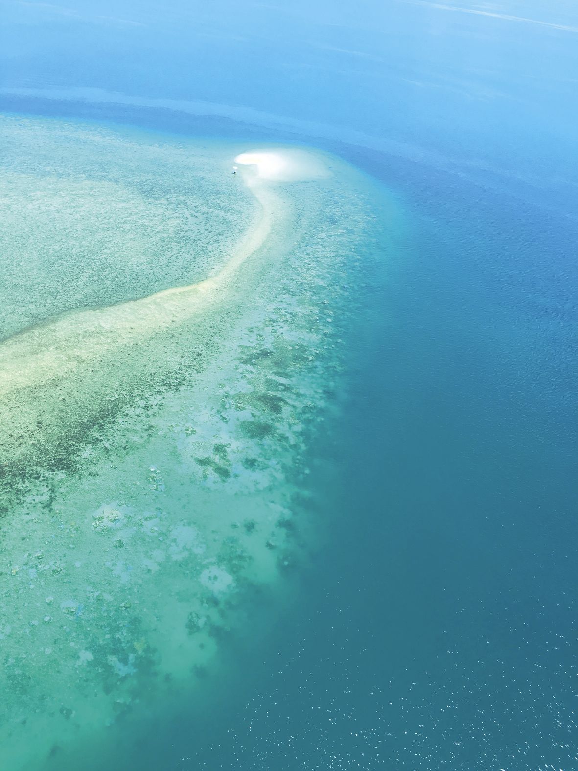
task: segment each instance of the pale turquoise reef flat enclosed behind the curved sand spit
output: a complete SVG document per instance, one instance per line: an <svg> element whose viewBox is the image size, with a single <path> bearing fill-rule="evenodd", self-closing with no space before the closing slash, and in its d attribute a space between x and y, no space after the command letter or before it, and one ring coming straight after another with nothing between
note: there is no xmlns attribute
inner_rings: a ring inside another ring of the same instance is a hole
<svg viewBox="0 0 578 771"><path fill-rule="evenodd" d="M0 116L0 338L74 308L200 281L254 198L230 158L96 124Z"/></svg>

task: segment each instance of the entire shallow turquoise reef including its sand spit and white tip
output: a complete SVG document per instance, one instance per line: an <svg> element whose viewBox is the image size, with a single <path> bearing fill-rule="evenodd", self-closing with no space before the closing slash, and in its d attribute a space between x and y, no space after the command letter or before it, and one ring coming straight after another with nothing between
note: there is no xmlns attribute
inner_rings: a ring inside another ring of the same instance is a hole
<svg viewBox="0 0 578 771"><path fill-rule="evenodd" d="M0 746L32 771L194 688L304 558L307 442L397 211L313 150L2 136Z"/></svg>

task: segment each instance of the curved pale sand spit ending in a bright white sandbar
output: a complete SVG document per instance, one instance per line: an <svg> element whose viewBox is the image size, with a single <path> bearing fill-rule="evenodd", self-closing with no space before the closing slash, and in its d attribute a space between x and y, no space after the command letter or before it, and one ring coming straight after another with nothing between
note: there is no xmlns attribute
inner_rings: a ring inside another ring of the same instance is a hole
<svg viewBox="0 0 578 771"><path fill-rule="evenodd" d="M47 325L15 335L0 346L0 398L14 389L66 375L69 369L131 338L190 318L220 295L232 274L265 244L275 221L279 224L283 220L284 202L267 182L330 176L321 160L304 150L255 150L241 153L235 160L247 167L241 176L260 204L260 215L219 273L197 284L166 289L109 308L72 311Z"/></svg>

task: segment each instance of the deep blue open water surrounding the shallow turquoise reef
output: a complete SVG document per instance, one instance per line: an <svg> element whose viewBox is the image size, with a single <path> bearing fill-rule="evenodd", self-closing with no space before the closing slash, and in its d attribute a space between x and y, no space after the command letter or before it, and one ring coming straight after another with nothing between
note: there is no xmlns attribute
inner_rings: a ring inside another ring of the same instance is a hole
<svg viewBox="0 0 578 771"><path fill-rule="evenodd" d="M237 645L214 703L183 705L152 735L143 726L131 762L578 768L575 12L489 8L538 25L411 3L359 12L312 3L291 14L247 5L245 16L243 5L194 23L182 8L139 6L159 19L154 34L56 16L53 29L34 27L35 52L4 59L7 87L99 86L338 126L344 143L314 141L382 180L408 211L407 234L383 255L383 273L368 276L347 417L314 448L311 516L331 522L331 537L277 628L257 622L258 639ZM266 35L277 35L274 51ZM169 39L178 45L166 61ZM86 52L87 41L99 45ZM322 44L357 51L349 56L362 66ZM357 74L332 75L337 56ZM254 85L240 90L250 75ZM410 76L443 88L420 91ZM466 98L472 83L502 96ZM87 115L73 104L5 104ZM178 113L124 119L285 136ZM347 143L351 130L413 149ZM287 136L308 140L296 131ZM423 160L416 147L433 154Z"/></svg>

